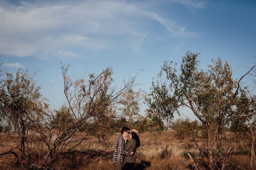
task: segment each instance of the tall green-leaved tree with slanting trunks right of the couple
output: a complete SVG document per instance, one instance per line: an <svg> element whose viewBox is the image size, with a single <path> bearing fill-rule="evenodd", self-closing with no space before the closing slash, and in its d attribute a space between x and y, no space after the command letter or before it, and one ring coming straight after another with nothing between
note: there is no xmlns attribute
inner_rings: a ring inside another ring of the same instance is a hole
<svg viewBox="0 0 256 170"><path fill-rule="evenodd" d="M222 64L219 58L208 71L198 69L198 54L187 52L181 63L180 73L177 63L164 62L156 82L152 82L145 103L153 110L154 117L173 119L173 113L180 114L180 108L189 108L206 128L206 145L194 147L203 155L198 158L210 169L224 168L232 148L224 147L221 138L223 128L230 122L236 95L233 90L237 81L232 78L231 67ZM166 76L163 79L163 74ZM195 137L193 136L193 139Z"/></svg>

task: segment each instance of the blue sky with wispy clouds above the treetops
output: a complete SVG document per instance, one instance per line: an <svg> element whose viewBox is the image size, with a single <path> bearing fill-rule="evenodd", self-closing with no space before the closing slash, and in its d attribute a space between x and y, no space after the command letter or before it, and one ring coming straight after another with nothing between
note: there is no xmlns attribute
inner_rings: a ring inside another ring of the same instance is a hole
<svg viewBox="0 0 256 170"><path fill-rule="evenodd" d="M255 62L255 7L256 1L2 0L1 59L11 73L40 70L35 79L52 109L64 102L60 61L71 64L71 75L112 67L118 85L143 69L135 90L148 91L164 61L180 63L191 50L201 53L203 69L220 57L238 78L246 71L239 66Z"/></svg>

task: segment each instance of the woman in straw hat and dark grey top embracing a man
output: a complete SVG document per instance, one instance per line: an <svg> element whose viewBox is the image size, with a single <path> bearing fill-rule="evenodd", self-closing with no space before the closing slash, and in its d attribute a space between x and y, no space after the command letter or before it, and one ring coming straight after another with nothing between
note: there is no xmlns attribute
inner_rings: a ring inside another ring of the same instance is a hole
<svg viewBox="0 0 256 170"><path fill-rule="evenodd" d="M136 153L136 148L140 147L140 138L139 138L139 132L135 129L130 130L130 139L128 139L124 145L124 150L127 152L134 152L134 155ZM124 166L122 170L133 170L134 169L134 164L136 163L136 158L135 156L125 156L124 157Z"/></svg>

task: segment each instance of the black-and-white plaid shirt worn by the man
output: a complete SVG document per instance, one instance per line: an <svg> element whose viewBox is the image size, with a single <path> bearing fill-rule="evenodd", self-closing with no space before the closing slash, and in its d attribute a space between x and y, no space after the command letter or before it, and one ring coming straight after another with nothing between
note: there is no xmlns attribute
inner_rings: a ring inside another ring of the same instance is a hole
<svg viewBox="0 0 256 170"><path fill-rule="evenodd" d="M124 163L124 156L131 156L131 153L126 152L124 150L124 145L125 145L124 136L120 135L116 139L116 143L115 143L115 152L112 159L113 164L115 164L117 161L121 161L122 163Z"/></svg>

